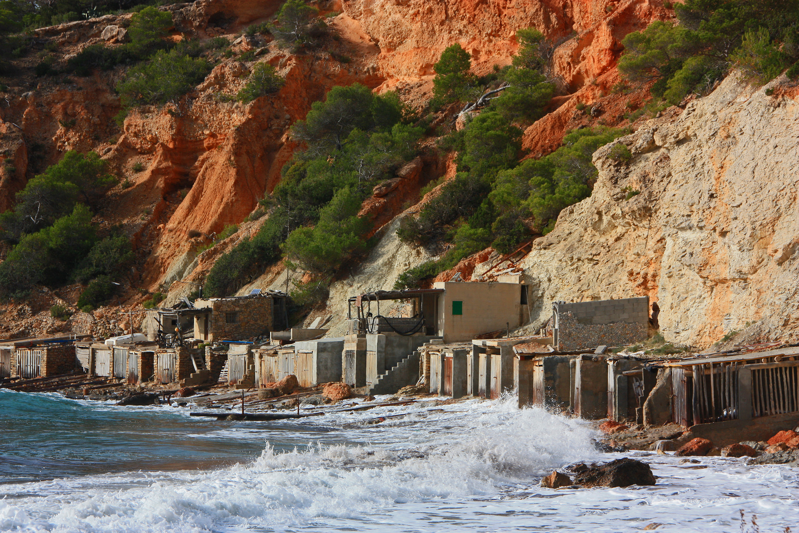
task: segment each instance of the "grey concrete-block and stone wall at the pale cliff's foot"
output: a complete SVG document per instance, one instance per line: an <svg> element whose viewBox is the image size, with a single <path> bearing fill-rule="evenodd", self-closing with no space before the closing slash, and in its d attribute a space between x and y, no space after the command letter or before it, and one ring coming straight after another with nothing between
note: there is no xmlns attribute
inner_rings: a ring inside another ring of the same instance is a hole
<svg viewBox="0 0 799 533"><path fill-rule="evenodd" d="M552 304L559 351L620 346L646 338L649 296Z"/></svg>

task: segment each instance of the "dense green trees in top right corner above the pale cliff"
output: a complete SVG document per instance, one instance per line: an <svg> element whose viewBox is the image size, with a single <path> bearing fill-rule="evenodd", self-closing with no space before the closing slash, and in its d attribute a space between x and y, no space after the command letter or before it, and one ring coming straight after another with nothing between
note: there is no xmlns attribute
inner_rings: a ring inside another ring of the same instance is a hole
<svg viewBox="0 0 799 533"><path fill-rule="evenodd" d="M675 5L679 24L654 22L628 34L619 72L654 81L651 92L677 104L710 91L734 65L758 83L799 58L799 4L795 0L686 0Z"/></svg>

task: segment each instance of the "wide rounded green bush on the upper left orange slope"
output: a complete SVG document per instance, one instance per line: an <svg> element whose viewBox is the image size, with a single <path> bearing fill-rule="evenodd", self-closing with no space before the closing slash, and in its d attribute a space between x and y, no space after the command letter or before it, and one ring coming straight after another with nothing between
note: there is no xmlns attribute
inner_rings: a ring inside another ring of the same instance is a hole
<svg viewBox="0 0 799 533"><path fill-rule="evenodd" d="M159 50L149 62L132 67L119 84L122 105L165 104L177 101L210 72L203 58L181 55L179 50Z"/></svg>

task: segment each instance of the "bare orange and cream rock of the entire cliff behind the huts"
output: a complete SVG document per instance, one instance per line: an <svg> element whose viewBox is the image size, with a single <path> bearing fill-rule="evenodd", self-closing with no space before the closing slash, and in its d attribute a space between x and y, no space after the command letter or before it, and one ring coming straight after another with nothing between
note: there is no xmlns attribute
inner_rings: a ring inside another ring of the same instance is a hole
<svg viewBox="0 0 799 533"><path fill-rule="evenodd" d="M624 95L610 90L619 79L621 40L673 17L662 2L649 0L342 0L323 9L340 12L328 19L336 50L295 55L268 40L239 38L244 26L264 22L279 6L197 0L170 7L174 38L224 35L235 42L237 54L256 52L255 61L222 60L185 101L137 109L121 129L112 118L119 110L113 86L120 72L73 77L66 85L20 77L6 91L7 105L0 106L0 209L64 150L97 150L120 181L97 219L121 223L131 237L137 253L132 283L149 291L171 284L175 299L193 285L173 281L201 281L225 249L258 229L261 221L243 221L274 188L296 148L288 128L330 87L360 82L379 91L395 89L404 101L421 105L444 48L459 42L472 55L475 72L486 74L511 61L516 30L535 26L558 45L552 67L563 92L524 134L524 147L535 156L555 149L567 129L618 125L630 107L641 104L646 89ZM113 42L118 34L106 29L124 26L126 17L46 28L37 38L57 44L54 54L63 62L83 46ZM344 56L350 61L336 59ZM248 105L228 101L225 95L235 93L254 63L264 60L284 76L284 88ZM549 316L552 300L647 295L658 301L662 332L674 342L706 347L743 329L746 340L791 338L799 326L793 303L799 242L796 95L797 87L785 78L761 89L729 78L685 109L637 122L635 133L619 140L633 154L629 162L610 159L610 147L600 149L592 197L566 209L522 263L534 292L534 325ZM578 103L593 111L578 112ZM344 332L348 296L392 288L400 272L431 258L434 251L396 239L397 215L418 211L413 204L420 187L453 175L454 168L451 158L428 153L376 187L363 213L375 216L378 244L362 264L349 265L332 284L327 308L311 318L332 316L328 327ZM238 233L198 255L209 242L206 236L234 223L240 224ZM487 250L457 269L466 279L479 279L497 261ZM253 286L291 288L290 278L302 277L275 265L242 292ZM69 305L78 292L68 288L48 298ZM137 305L144 297L124 303ZM30 304L15 327L35 320L50 332L72 327L42 319L48 298ZM114 313L106 310L106 318ZM81 332L93 331L91 315L76 316ZM38 332L38 326L24 327Z"/></svg>

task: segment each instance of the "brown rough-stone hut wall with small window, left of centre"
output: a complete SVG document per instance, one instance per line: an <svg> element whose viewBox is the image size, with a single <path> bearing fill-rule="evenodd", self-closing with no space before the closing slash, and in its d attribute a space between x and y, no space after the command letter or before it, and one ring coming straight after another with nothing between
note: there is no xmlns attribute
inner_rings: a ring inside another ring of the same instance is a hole
<svg viewBox="0 0 799 533"><path fill-rule="evenodd" d="M241 298L219 298L197 300L197 308L210 308L208 315L194 319L194 336L197 339L244 340L272 331L272 297L249 296ZM229 321L229 313L236 314L235 321ZM208 324L205 324L208 320ZM206 334L206 331L208 332Z"/></svg>

